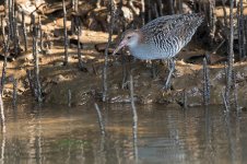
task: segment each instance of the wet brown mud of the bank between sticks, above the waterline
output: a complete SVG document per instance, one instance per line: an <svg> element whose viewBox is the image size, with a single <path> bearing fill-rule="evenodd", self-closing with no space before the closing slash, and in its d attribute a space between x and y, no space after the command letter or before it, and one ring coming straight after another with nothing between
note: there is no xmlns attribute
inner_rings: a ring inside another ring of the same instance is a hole
<svg viewBox="0 0 247 164"><path fill-rule="evenodd" d="M219 9L221 10L221 9ZM216 11L219 14L221 11ZM87 71L81 71L78 68L77 46L70 44L69 65L63 66L63 44L62 44L62 19L56 21L44 20L42 28L48 35L52 34L51 40L55 43L45 54L39 54L40 82L44 94L44 102L51 104L68 104L68 92L72 93L72 104L85 104L94 98L101 98L102 95L102 70L104 66L104 44L107 42L108 34L103 32L93 32L83 30L80 42L83 44L82 56ZM71 22L67 22L68 28ZM114 36L116 38L116 36ZM70 36L70 39L77 39L77 36ZM26 70L33 69L32 56L32 37L28 37L27 52L21 52L12 62L8 62L7 84L4 96L12 96L12 77L17 79L17 93L26 98L32 97L26 78ZM103 46L103 51L95 49L95 46ZM113 51L113 47L109 51ZM129 72L132 70L134 97L138 103L163 103L163 104L184 104L184 95L187 97L189 106L201 105L203 99L203 70L202 58L205 50L201 47L190 46L184 48L178 55L176 62L176 73L172 80L172 90L163 90L164 80L167 78L168 70L164 62L155 61L157 74L152 75L151 65L148 61L133 60L127 57L127 62L121 63L121 56L109 56L107 70L107 102L109 103L128 103L130 102L128 81ZM211 56L213 63L225 60L217 55ZM187 62L189 61L189 62ZM214 62L215 61L215 62ZM2 65L2 61L1 61ZM127 79L122 80L124 68L127 70ZM209 66L211 83L211 104L222 104L222 92L225 87L224 65L219 63ZM236 72L236 91L238 103L246 106L247 89L247 62L235 63ZM124 83L122 83L124 81ZM234 97L234 96L232 96ZM234 101L233 101L234 102Z"/></svg>

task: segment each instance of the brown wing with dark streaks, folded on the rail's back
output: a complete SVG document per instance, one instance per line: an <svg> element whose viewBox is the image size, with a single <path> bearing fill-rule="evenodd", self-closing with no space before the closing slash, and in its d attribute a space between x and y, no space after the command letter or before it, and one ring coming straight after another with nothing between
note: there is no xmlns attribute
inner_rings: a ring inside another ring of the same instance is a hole
<svg viewBox="0 0 247 164"><path fill-rule="evenodd" d="M141 28L141 32L145 36L145 43L154 43L161 37L164 39L177 37L187 44L202 20L201 13L166 15L151 21Z"/></svg>

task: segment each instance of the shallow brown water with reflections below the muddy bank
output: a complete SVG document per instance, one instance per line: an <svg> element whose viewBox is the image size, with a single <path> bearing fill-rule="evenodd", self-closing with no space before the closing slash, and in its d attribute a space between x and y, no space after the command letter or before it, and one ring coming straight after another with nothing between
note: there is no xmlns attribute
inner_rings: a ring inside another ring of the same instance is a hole
<svg viewBox="0 0 247 164"><path fill-rule="evenodd" d="M99 105L102 136L93 105L68 108L19 106L5 109L0 138L1 163L177 164L245 163L247 113L222 107L138 106L138 138L132 138L129 105ZM133 144L136 143L136 144Z"/></svg>

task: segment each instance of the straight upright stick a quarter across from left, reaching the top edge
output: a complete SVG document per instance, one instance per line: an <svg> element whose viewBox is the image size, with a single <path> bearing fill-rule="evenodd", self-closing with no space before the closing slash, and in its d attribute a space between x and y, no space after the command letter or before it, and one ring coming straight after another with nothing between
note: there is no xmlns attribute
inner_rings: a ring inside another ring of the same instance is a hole
<svg viewBox="0 0 247 164"><path fill-rule="evenodd" d="M69 56L68 56L68 46L69 46L69 42L68 42L68 32L67 32L67 11L66 11L66 2L64 0L62 0L62 11L63 11L63 44L64 44L64 61L63 61L63 66L67 66L69 62Z"/></svg>

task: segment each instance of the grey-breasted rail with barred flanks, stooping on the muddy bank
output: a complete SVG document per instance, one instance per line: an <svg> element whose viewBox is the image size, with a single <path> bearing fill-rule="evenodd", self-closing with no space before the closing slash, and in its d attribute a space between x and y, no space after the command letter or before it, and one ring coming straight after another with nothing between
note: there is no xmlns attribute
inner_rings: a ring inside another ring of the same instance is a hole
<svg viewBox="0 0 247 164"><path fill-rule="evenodd" d="M170 78L175 70L174 58L190 42L202 22L202 13L157 17L140 30L127 30L113 55L121 48L128 47L130 54L138 59L168 59L170 68L165 87L169 89Z"/></svg>

